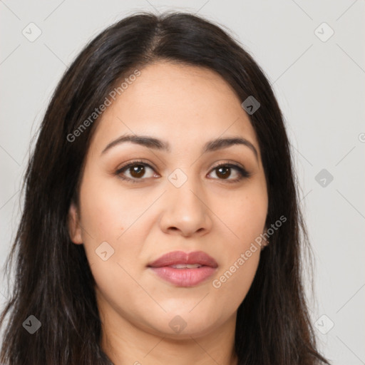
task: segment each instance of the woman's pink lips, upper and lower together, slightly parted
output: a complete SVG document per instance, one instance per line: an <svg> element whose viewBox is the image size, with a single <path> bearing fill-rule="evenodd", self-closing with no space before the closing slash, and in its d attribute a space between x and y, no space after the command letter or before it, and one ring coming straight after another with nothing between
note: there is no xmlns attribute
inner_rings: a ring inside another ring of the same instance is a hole
<svg viewBox="0 0 365 365"><path fill-rule="evenodd" d="M171 267L171 265L177 264L200 264L202 266L192 269ZM217 267L218 264L215 259L202 251L190 253L183 251L169 252L148 264L148 268L155 272L158 277L178 287L193 287L204 282L214 274Z"/></svg>

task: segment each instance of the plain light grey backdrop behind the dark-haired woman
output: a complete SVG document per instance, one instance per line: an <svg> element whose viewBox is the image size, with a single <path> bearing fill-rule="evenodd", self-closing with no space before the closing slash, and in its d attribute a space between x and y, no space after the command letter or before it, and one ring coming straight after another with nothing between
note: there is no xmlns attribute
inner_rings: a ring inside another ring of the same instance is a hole
<svg viewBox="0 0 365 365"><path fill-rule="evenodd" d="M0 1L0 264L19 222L31 137L63 72L106 26L170 9L230 29L272 83L314 251L319 346L334 365L365 364L364 0Z"/></svg>

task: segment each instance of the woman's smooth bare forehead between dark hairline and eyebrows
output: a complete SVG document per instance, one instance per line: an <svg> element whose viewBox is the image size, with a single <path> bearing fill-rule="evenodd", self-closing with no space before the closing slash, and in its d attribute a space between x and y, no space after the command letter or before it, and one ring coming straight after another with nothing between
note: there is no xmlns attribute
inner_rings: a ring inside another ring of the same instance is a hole
<svg viewBox="0 0 365 365"><path fill-rule="evenodd" d="M213 138L242 135L259 150L241 103L218 73L161 61L140 69L140 76L117 94L98 123L95 139L105 145L123 133L143 133L171 145L200 146Z"/></svg>

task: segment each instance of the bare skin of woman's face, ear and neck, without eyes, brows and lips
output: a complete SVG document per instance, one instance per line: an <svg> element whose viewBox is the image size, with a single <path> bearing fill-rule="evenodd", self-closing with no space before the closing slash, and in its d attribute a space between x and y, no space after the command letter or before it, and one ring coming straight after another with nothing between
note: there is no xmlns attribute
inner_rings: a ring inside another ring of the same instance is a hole
<svg viewBox="0 0 365 365"><path fill-rule="evenodd" d="M242 101L217 73L166 61L140 71L98 121L79 206L72 204L69 214L71 240L84 245L96 279L101 346L115 365L237 364L237 308L255 277L260 250L220 288L212 281L266 230L267 183L255 130ZM125 142L102 153L125 133L165 140L171 150ZM249 140L258 158L245 145L201 153L208 140L231 136ZM124 171L137 183L115 175L135 159L153 169L145 167L144 175ZM220 163L243 165L251 175L230 183L240 173L232 168L222 177L214 169ZM187 176L181 187L168 180L177 168ZM101 242L114 250L106 261L96 255ZM215 274L195 287L178 287L148 269L175 250L206 252L217 261ZM175 316L186 324L180 333L169 326Z"/></svg>

